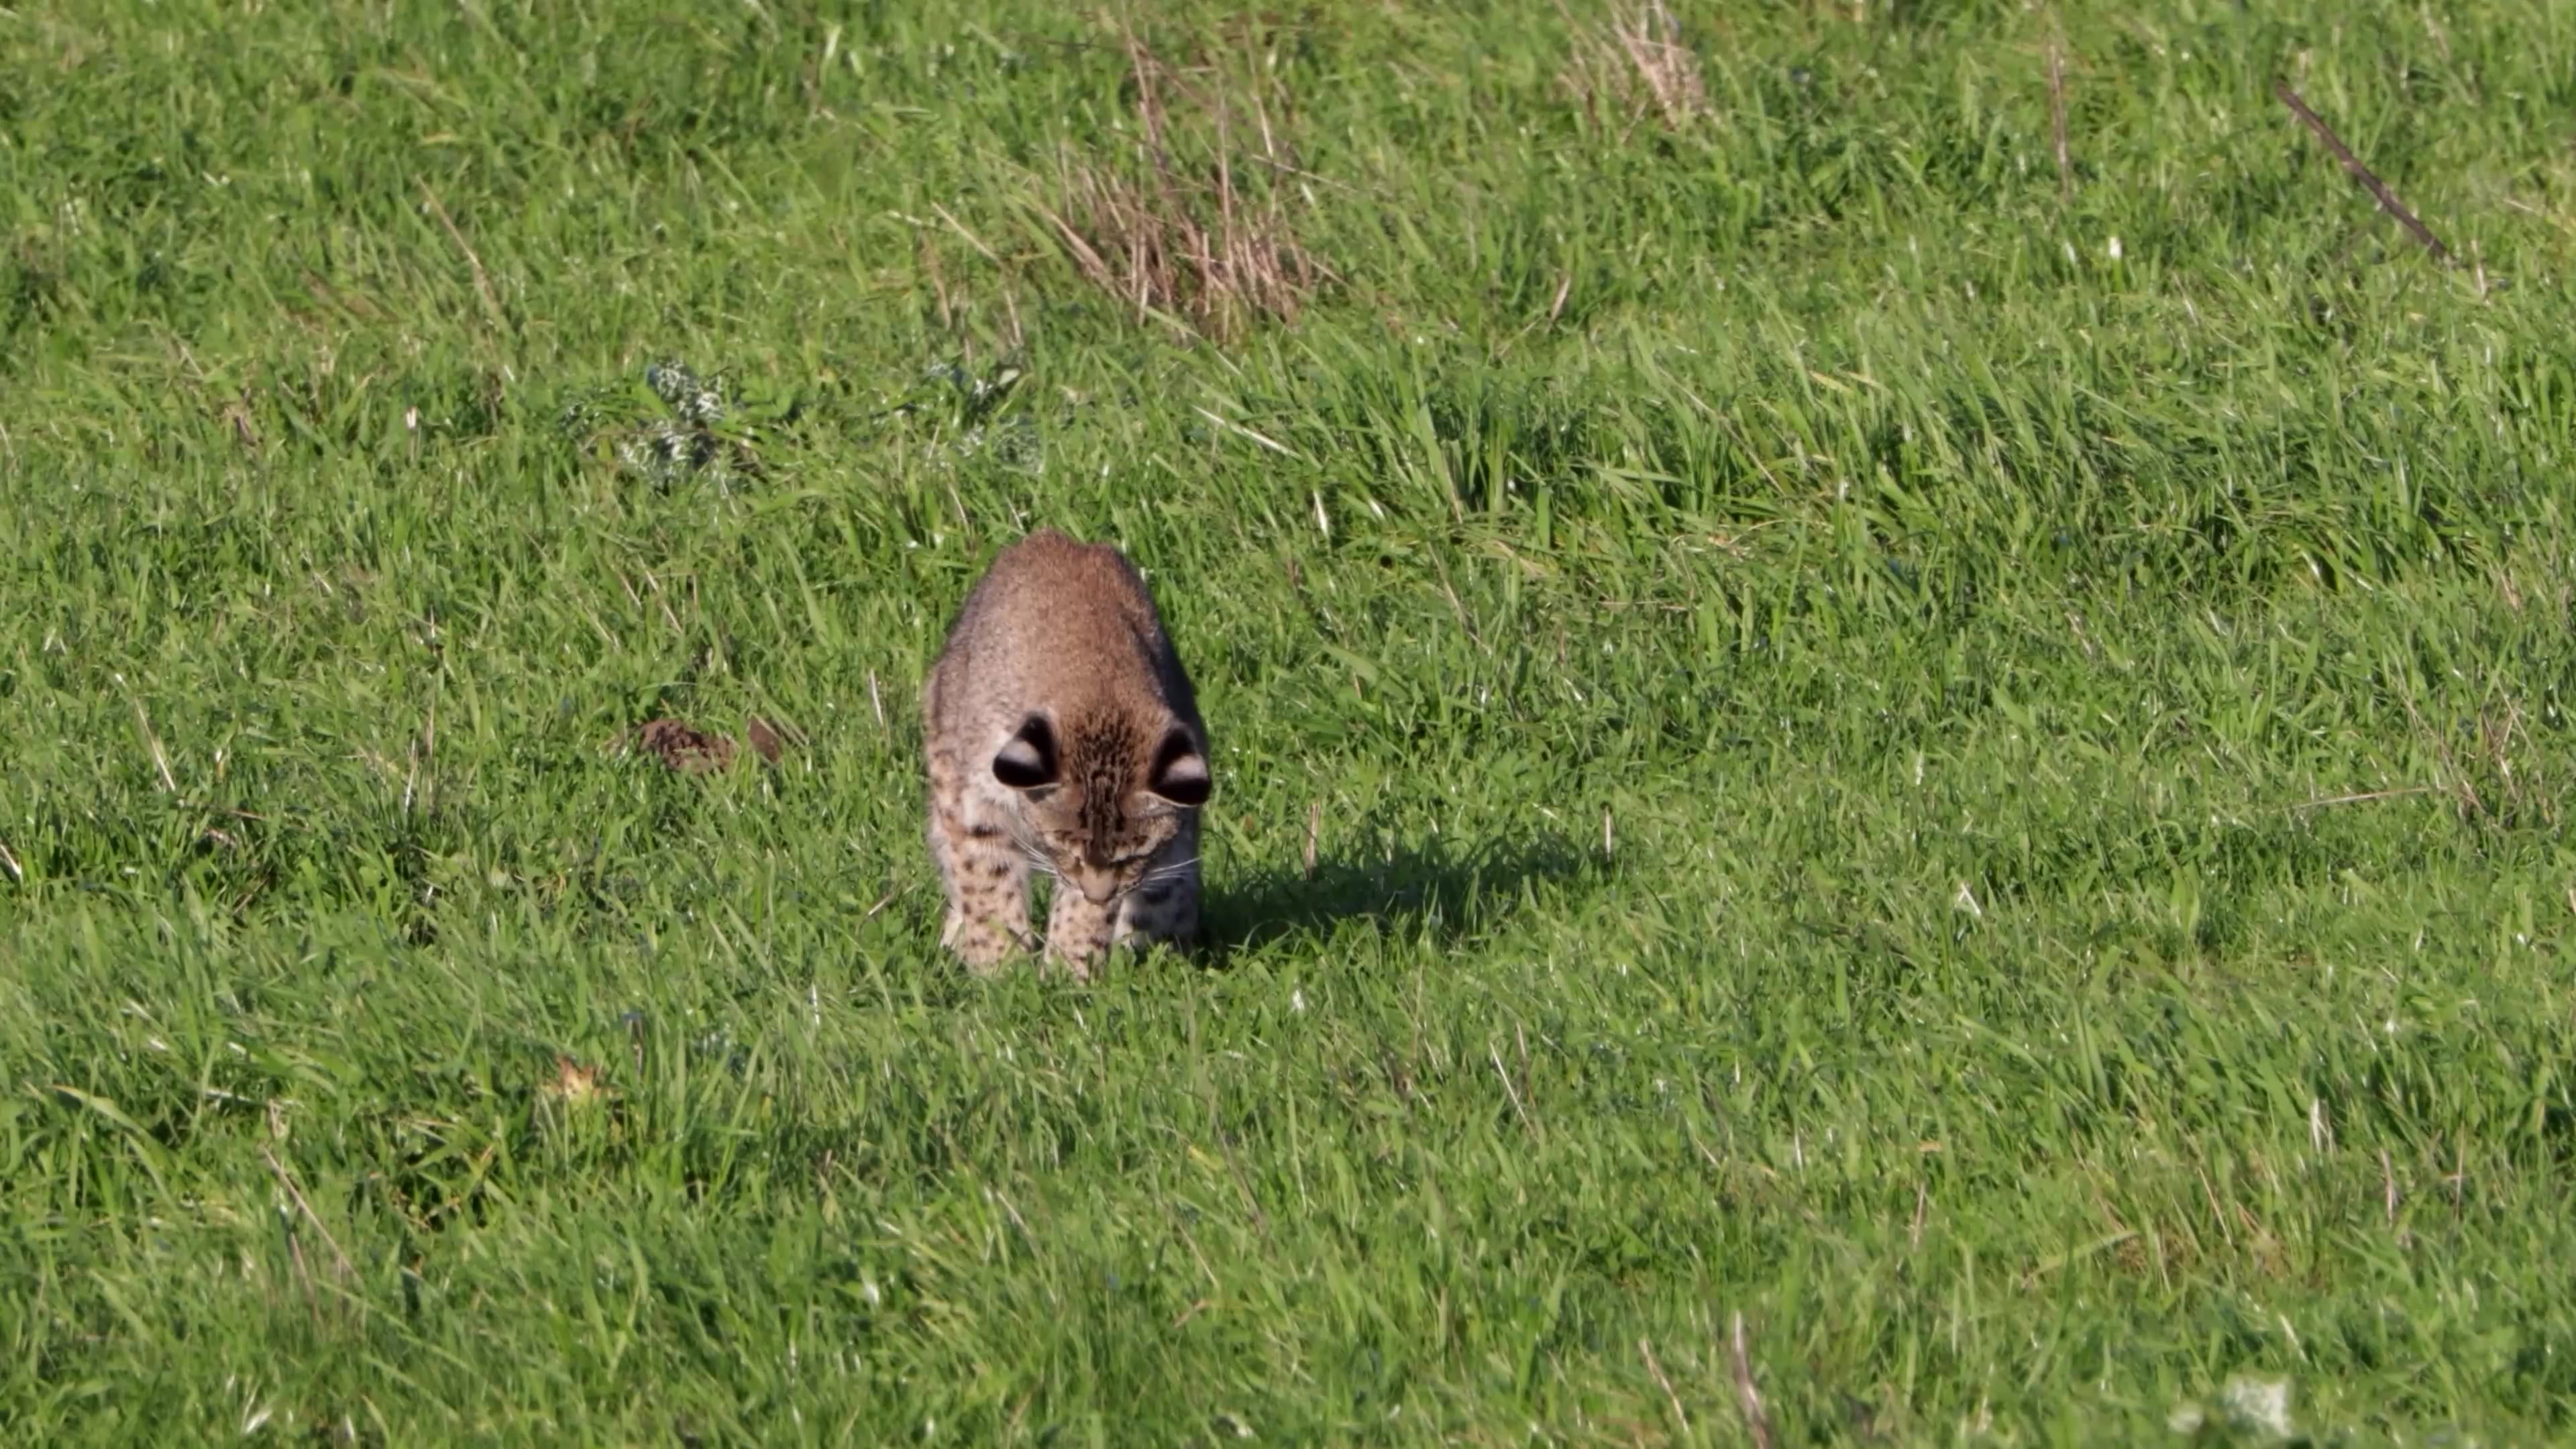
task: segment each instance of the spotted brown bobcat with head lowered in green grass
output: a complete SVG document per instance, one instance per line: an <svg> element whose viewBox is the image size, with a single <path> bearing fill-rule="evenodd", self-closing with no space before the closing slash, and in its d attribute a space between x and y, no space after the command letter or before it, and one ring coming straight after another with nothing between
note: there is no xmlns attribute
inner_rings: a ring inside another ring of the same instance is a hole
<svg viewBox="0 0 2576 1449"><path fill-rule="evenodd" d="M1136 567L1038 529L966 596L922 681L940 944L976 972L1028 933L1028 871L1056 877L1046 959L1087 977L1128 936L1198 936L1208 730Z"/></svg>

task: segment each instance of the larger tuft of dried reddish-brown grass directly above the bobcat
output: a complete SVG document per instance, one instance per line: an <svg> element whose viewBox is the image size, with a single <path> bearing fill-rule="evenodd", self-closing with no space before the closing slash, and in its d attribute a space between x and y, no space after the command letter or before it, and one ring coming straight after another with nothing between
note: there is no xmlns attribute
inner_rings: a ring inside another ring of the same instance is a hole
<svg viewBox="0 0 2576 1449"><path fill-rule="evenodd" d="M1273 124L1278 83L1229 90L1213 67L1170 67L1133 34L1126 52L1144 134L1123 165L1059 152L1054 204L1036 204L1051 240L1139 320L1213 340L1262 317L1296 322L1337 276L1296 235L1288 183L1306 173ZM1236 155L1244 121L1260 152Z"/></svg>

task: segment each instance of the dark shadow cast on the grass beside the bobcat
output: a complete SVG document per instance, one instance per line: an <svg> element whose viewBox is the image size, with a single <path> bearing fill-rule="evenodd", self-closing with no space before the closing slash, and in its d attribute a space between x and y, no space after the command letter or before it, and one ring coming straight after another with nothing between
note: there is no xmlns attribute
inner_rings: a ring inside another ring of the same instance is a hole
<svg viewBox="0 0 2576 1449"><path fill-rule="evenodd" d="M1208 882L1200 941L1211 964L1288 936L1329 936L1365 920L1381 936L1430 936L1448 946L1520 910L1525 887L1600 869L1561 838L1486 841L1455 848L1432 835L1383 859L1319 859Z"/></svg>

